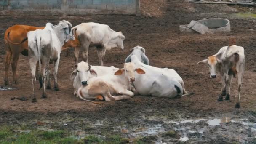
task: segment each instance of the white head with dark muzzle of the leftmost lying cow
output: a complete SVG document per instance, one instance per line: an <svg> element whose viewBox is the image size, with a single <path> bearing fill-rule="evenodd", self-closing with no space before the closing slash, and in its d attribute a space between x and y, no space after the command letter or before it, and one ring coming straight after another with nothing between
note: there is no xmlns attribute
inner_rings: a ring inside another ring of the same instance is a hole
<svg viewBox="0 0 256 144"><path fill-rule="evenodd" d="M70 79L73 80L75 77L80 80L81 85L87 85L88 81L88 75L95 75L97 76L97 73L91 69L90 64L82 61L75 65L76 69L71 73Z"/></svg>

